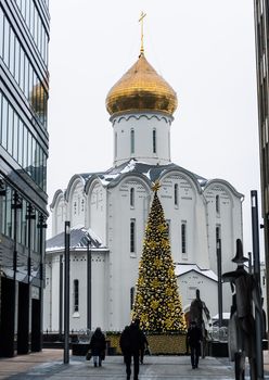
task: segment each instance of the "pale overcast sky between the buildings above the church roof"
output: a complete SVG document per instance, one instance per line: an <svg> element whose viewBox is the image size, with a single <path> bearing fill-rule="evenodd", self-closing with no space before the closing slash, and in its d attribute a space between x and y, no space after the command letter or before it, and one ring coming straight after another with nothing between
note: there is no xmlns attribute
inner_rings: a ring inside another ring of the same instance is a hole
<svg viewBox="0 0 269 380"><path fill-rule="evenodd" d="M141 11L145 56L178 96L171 161L245 195L252 251L249 192L259 190L253 0L51 0L49 203L74 174L113 164L105 97L138 59Z"/></svg>

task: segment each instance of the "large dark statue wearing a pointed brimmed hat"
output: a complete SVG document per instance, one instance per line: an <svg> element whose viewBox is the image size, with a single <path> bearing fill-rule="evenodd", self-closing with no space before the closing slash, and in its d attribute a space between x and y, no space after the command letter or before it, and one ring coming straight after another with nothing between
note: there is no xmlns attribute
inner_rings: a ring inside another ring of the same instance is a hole
<svg viewBox="0 0 269 380"><path fill-rule="evenodd" d="M236 253L233 263L238 268L222 275L225 282L230 282L232 295L231 316L228 326L228 345L230 360L234 362L235 380L245 378L245 356L248 357L251 379L257 379L256 334L253 305L261 311L260 292L254 275L244 269L248 258L243 256L243 246L236 240Z"/></svg>

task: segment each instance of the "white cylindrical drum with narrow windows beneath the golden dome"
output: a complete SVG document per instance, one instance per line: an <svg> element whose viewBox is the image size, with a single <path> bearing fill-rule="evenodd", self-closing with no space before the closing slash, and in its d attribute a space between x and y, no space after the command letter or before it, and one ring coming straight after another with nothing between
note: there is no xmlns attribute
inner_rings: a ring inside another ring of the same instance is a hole
<svg viewBox="0 0 269 380"><path fill-rule="evenodd" d="M114 127L114 164L120 165L130 159L152 164L170 162L169 130L170 118L157 114L132 114L117 116ZM133 149L131 149L131 130ZM156 149L153 149L153 130L155 130Z"/></svg>

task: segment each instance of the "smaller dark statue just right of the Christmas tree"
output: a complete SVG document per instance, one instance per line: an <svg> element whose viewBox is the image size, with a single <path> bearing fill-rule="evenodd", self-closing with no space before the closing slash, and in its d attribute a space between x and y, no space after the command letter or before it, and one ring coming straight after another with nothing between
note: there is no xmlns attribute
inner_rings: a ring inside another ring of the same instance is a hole
<svg viewBox="0 0 269 380"><path fill-rule="evenodd" d="M206 304L201 300L200 297L200 290L196 289L196 299L192 301L191 307L190 307L190 321L195 321L197 327L202 331L202 357L205 357L205 352L206 352L206 342L207 342L207 329L205 326L205 319L207 321L210 320L210 313L208 308L206 307Z"/></svg>

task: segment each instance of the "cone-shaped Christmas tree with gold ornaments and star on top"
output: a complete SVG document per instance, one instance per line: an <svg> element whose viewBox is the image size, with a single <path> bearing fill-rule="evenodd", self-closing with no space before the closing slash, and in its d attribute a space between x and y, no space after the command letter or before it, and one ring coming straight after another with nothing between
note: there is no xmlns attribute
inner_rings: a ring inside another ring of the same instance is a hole
<svg viewBox="0 0 269 380"><path fill-rule="evenodd" d="M132 319L140 319L140 326L145 331L185 331L168 226L157 195L158 189L156 182L139 264Z"/></svg>

